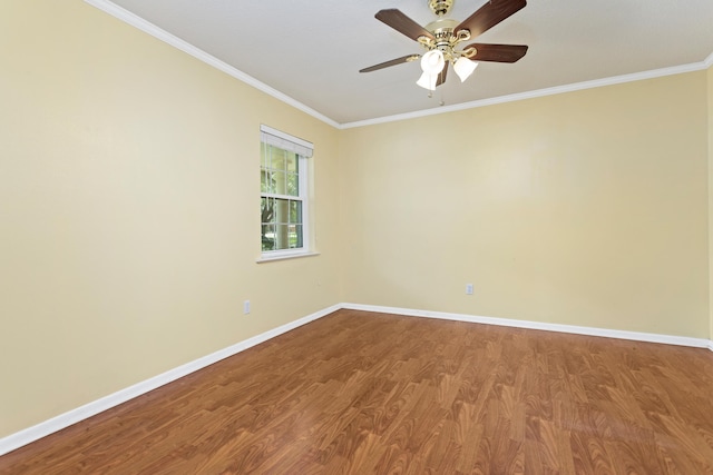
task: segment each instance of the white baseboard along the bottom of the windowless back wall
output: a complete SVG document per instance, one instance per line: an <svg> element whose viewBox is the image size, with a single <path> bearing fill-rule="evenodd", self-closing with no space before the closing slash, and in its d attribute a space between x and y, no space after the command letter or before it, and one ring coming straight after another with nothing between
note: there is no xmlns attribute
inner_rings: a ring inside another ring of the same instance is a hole
<svg viewBox="0 0 713 475"><path fill-rule="evenodd" d="M713 350L713 342L703 338L671 336L639 331L613 330L595 327L579 327L574 325L546 324L541 321L516 320L509 318L479 317L475 315L448 314L443 311L414 310L410 308L380 307L374 305L341 304L341 308L383 314L406 315L411 317L440 318L443 320L469 321L473 324L498 325L504 327L528 328L546 331L568 333L576 335L600 336L606 338L631 339L635 342L662 343L666 345L709 348Z"/></svg>

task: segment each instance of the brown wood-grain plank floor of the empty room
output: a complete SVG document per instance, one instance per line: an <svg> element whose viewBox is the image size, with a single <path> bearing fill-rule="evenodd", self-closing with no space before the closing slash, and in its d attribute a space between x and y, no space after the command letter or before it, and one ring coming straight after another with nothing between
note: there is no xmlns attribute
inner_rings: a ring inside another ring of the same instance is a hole
<svg viewBox="0 0 713 475"><path fill-rule="evenodd" d="M707 349L340 310L1 474L713 474Z"/></svg>

